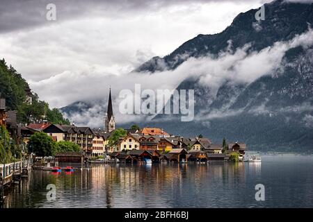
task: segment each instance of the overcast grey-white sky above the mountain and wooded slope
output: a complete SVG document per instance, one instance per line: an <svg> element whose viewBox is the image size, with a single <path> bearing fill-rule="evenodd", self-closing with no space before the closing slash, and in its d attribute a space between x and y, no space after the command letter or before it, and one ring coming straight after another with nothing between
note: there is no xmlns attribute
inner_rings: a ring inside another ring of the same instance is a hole
<svg viewBox="0 0 313 222"><path fill-rule="evenodd" d="M113 75L166 56L200 33L223 31L264 2L1 0L0 56L40 99L61 108L106 97L109 85L114 92ZM56 5L56 21L46 19L48 3Z"/></svg>

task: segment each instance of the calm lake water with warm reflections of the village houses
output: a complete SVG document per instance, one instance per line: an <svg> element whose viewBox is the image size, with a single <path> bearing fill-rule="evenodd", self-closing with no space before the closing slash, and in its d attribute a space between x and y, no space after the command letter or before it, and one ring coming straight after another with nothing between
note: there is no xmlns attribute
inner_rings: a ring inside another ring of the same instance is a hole
<svg viewBox="0 0 313 222"><path fill-rule="evenodd" d="M56 200L47 200L47 185ZM255 200L255 185L265 200ZM4 207L313 207L313 157L266 155L262 163L97 164L31 171L11 187Z"/></svg>

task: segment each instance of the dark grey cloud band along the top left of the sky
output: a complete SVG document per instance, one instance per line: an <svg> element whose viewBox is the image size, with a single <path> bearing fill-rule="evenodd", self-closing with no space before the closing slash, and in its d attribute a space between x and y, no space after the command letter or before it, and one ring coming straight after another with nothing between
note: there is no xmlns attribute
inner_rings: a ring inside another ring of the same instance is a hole
<svg viewBox="0 0 313 222"><path fill-rule="evenodd" d="M223 0L225 2L231 0ZM266 0L253 0L257 3ZM220 2L216 0L1 0L0 8L0 33L32 28L36 26L49 26L52 22L47 21L46 6L54 3L57 9L57 21L65 22L68 19L79 17L102 17L118 18L134 15L134 12L154 12L169 6L181 6L190 3ZM239 0L237 2L251 2Z"/></svg>

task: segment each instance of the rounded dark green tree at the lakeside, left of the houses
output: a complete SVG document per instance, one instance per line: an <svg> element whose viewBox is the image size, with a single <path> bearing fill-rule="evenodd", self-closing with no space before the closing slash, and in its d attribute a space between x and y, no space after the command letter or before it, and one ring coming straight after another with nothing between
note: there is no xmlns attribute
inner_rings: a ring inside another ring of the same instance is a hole
<svg viewBox="0 0 313 222"><path fill-rule="evenodd" d="M56 152L56 142L46 133L34 133L29 138L29 151L40 157L51 156Z"/></svg>

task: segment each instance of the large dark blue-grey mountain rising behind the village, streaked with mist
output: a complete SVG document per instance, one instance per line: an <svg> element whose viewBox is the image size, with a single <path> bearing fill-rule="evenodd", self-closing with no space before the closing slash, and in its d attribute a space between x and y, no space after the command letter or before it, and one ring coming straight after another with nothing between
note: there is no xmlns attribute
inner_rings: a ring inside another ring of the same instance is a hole
<svg viewBox="0 0 313 222"><path fill-rule="evenodd" d="M158 114L141 125L186 136L202 134L216 143L226 137L257 150L313 151L313 47L308 28L313 4L273 1L264 8L265 20L255 20L259 8L240 13L225 31L198 35L168 56L138 67L135 71L154 74L199 60L207 69L203 74L190 71L177 87L195 90L195 121ZM218 79L218 85L207 80L210 72L214 78L209 80Z"/></svg>

